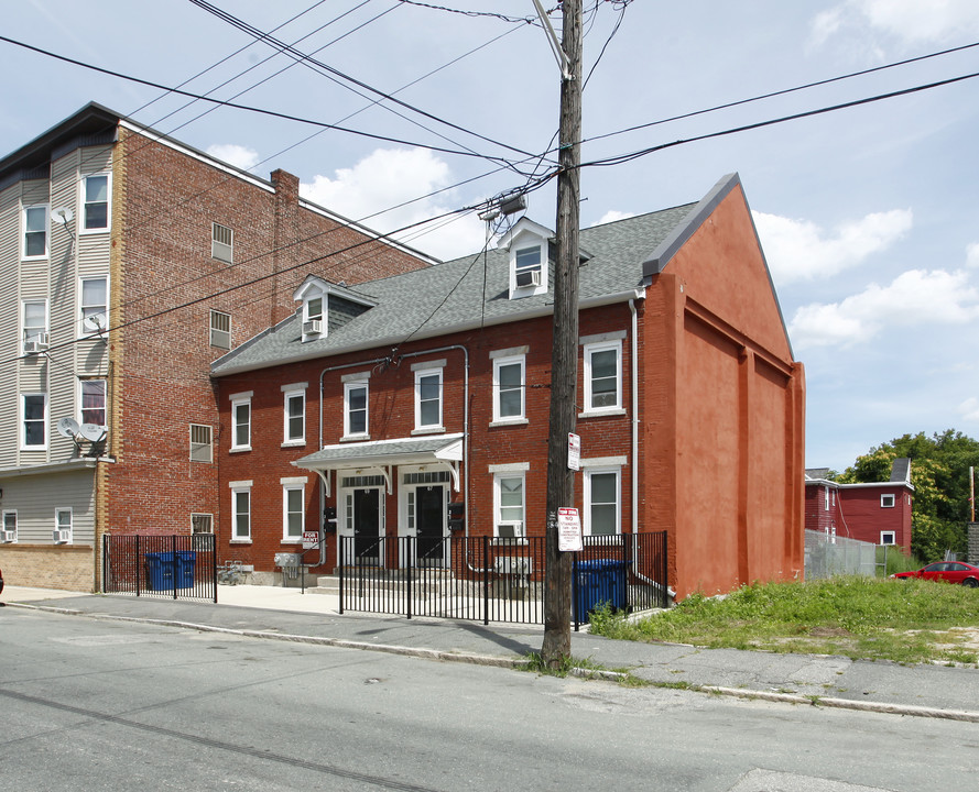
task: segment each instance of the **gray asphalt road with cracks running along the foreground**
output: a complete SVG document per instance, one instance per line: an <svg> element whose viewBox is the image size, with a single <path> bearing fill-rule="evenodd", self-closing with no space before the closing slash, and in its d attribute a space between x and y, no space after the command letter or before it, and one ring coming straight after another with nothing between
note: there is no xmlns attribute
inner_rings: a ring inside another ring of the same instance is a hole
<svg viewBox="0 0 979 792"><path fill-rule="evenodd" d="M979 726L0 608L0 791L968 789Z"/></svg>

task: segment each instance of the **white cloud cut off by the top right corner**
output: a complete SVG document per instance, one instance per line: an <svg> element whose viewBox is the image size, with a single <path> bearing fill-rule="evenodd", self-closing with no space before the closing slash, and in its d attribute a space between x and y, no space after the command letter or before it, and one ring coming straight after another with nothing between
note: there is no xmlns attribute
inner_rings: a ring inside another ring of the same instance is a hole
<svg viewBox="0 0 979 792"><path fill-rule="evenodd" d="M867 29L905 43L934 42L979 33L976 0L847 0L809 23L815 45L844 29Z"/></svg>

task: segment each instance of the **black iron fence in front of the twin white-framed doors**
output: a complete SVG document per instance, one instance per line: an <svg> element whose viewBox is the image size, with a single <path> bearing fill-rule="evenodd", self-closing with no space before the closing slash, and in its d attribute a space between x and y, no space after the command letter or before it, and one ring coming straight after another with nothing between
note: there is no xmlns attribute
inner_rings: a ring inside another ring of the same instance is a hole
<svg viewBox="0 0 979 792"><path fill-rule="evenodd" d="M339 537L340 613L544 624L544 537ZM667 604L665 532L585 537L574 553L575 629L602 605Z"/></svg>

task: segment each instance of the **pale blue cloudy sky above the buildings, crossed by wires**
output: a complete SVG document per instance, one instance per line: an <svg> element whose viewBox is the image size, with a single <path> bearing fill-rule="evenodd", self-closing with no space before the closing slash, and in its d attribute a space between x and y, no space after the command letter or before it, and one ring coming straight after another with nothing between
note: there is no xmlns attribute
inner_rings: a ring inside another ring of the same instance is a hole
<svg viewBox="0 0 979 792"><path fill-rule="evenodd" d="M533 16L531 0L216 3L315 51L336 69L328 75L286 68L285 56L202 4L24 0L4 8L0 33L161 85L189 80L185 90L225 100L243 91L233 101L401 142L315 134L307 124L202 102L184 107L185 98L0 42L7 73L17 76L4 87L0 152L98 101L258 175L285 168L311 199L392 230L521 187L534 169L526 154L551 145L557 66L541 28L514 21ZM559 28L559 14L553 19ZM979 73L979 47L971 47L654 123L977 42L975 0L601 2L586 20L585 68L594 72L583 158ZM355 92L337 73L361 87ZM411 107L378 102L368 87ZM581 222L696 200L737 170L806 365L807 465L842 470L905 432L953 427L979 437L970 343L979 330L977 97L979 78L965 79L588 167ZM633 127L641 129L612 134ZM501 165L503 157L515 166ZM545 184L530 196L529 216L553 227L554 201ZM410 243L442 257L482 244L485 226L474 215L438 226L412 233Z"/></svg>

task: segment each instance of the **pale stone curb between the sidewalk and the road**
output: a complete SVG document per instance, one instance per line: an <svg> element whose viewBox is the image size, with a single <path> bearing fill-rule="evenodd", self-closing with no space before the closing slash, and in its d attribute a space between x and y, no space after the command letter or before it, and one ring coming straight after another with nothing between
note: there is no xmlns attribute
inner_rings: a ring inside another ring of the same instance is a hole
<svg viewBox="0 0 979 792"><path fill-rule="evenodd" d="M314 646L328 646L338 649L359 649L361 651L385 652L401 657L414 657L424 660L439 660L442 662L463 662L471 666L489 666L494 668L515 669L524 664L522 658L507 658L496 654L475 654L471 652L452 652L440 649L421 649L416 647L396 646L393 644L369 644L353 641L346 638L324 638L317 636L291 635L287 632L269 632L265 630L249 630L231 627L215 627L214 625L200 625L191 622L177 622L174 619L150 619L135 616L113 616L111 614L93 614L74 608L59 608L50 605L31 605L29 603L7 603L8 607L20 607L29 610L43 610L64 616L83 616L109 622L132 622L137 624L152 624L162 627L180 627L194 629L200 632L219 632L237 635L246 638L262 638L264 640L292 641L295 644L312 644ZM621 671L607 671L602 669L573 668L570 675L581 679L601 679L608 682L622 682L629 675ZM652 683L655 685L655 683ZM711 693L732 698L747 698L768 701L782 704L804 704L816 707L830 707L835 710L852 710L857 712L872 712L884 715L904 715L909 717L940 718L945 721L959 721L964 723L979 723L979 712L965 710L938 710L936 707L914 706L912 704L885 704L883 702L850 701L848 698L833 698L823 696L801 696L794 693L772 693L770 691L753 691L743 688L722 688L718 685L695 685L690 692Z"/></svg>

